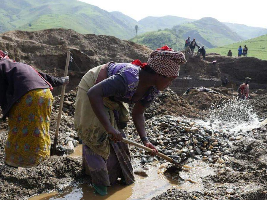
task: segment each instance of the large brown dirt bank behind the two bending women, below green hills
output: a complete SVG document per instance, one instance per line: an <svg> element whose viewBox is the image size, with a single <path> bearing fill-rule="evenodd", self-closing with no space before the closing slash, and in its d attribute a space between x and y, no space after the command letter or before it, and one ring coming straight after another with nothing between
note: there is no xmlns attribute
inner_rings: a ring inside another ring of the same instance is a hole
<svg viewBox="0 0 267 200"><path fill-rule="evenodd" d="M89 69L98 65L115 62L131 62L139 59L146 62L151 49L131 41L113 36L82 35L71 29L47 29L42 31L10 31L0 35L1 49L9 57L27 63L54 76L64 73L66 54L71 49L74 62L69 71L70 84L74 89ZM60 94L55 88L54 95Z"/></svg>

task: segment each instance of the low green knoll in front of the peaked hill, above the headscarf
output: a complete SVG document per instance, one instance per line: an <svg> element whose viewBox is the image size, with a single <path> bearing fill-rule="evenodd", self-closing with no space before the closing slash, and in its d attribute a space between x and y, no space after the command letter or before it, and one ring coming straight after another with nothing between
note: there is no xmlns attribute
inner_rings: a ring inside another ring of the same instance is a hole
<svg viewBox="0 0 267 200"><path fill-rule="evenodd" d="M184 46L184 40L179 38L172 33L171 30L164 31L152 31L147 33L142 33L131 39L138 44L146 45L150 49L157 49L168 45L174 50L182 50Z"/></svg>

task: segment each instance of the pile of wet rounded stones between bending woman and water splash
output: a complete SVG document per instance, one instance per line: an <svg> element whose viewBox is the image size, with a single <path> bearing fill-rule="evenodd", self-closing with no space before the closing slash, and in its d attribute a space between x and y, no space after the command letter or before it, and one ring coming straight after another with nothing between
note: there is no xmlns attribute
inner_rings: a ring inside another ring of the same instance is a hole
<svg viewBox="0 0 267 200"><path fill-rule="evenodd" d="M230 154L229 144L227 140L223 140L229 137L226 132L198 126L187 119L178 119L174 116L153 117L146 121L146 132L150 142L159 152L178 162L185 158L202 158L209 163L220 165L228 160ZM129 133L131 140L139 141L133 126L129 128ZM134 157L142 158L142 163L148 162L148 159L144 159L144 151L136 148L132 148L131 151Z"/></svg>

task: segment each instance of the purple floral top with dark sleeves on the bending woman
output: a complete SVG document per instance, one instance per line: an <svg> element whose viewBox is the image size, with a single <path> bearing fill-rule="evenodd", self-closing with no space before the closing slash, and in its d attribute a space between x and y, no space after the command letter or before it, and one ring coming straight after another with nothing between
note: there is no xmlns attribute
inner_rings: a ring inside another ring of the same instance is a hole
<svg viewBox="0 0 267 200"><path fill-rule="evenodd" d="M136 92L141 68L131 63L110 63L107 67L108 78L101 82L104 97L110 97L116 101L136 103L130 98ZM148 106L158 96L157 88L150 87L146 94L138 101Z"/></svg>

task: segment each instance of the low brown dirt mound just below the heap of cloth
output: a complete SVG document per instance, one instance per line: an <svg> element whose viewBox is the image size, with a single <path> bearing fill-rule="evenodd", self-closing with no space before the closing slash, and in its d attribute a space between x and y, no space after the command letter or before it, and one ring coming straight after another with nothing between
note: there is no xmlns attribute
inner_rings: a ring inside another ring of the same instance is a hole
<svg viewBox="0 0 267 200"><path fill-rule="evenodd" d="M214 94L210 92L198 92L197 94L183 96L190 105L194 105L199 110L206 110L211 105L221 104L229 97L223 94Z"/></svg>

